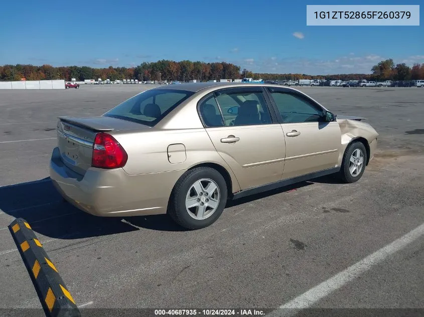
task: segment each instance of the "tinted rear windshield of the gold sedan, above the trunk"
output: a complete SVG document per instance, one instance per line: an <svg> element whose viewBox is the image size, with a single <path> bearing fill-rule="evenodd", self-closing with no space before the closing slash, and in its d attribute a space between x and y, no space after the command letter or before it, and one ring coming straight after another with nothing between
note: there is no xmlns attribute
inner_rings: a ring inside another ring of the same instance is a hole
<svg viewBox="0 0 424 317"><path fill-rule="evenodd" d="M103 116L153 127L193 94L185 90L150 89L129 98Z"/></svg>

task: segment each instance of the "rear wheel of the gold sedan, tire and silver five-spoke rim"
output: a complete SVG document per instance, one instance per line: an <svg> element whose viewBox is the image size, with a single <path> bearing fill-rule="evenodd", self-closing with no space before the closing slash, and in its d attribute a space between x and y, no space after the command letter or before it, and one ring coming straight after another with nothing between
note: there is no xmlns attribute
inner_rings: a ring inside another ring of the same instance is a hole
<svg viewBox="0 0 424 317"><path fill-rule="evenodd" d="M219 218L227 195L221 173L210 167L197 167L187 171L175 184L167 213L184 228L205 228Z"/></svg>

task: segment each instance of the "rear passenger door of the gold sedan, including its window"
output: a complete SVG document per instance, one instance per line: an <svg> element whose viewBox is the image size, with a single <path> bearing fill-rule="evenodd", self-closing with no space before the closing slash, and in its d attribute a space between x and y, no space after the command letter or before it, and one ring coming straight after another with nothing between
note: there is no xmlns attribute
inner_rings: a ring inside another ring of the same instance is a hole
<svg viewBox="0 0 424 317"><path fill-rule="evenodd" d="M221 89L199 103L206 131L241 189L280 180L285 138L262 87Z"/></svg>

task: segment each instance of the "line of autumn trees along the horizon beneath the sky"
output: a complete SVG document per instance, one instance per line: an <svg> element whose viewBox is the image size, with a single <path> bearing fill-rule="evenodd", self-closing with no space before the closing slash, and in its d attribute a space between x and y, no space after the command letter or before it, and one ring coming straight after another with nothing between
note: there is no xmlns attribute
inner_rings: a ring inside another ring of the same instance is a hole
<svg viewBox="0 0 424 317"><path fill-rule="evenodd" d="M138 81L208 81L220 79L240 79L243 77L263 80L298 80L298 79L323 79L323 80L418 80L424 79L424 64L394 65L393 60L379 62L371 69L371 74L333 74L317 75L308 74L270 74L253 73L247 69L231 63L205 63L191 61L161 60L152 63L142 63L136 67L91 68L88 66L61 66L51 65L4 65L0 66L1 81L26 80L54 80L66 81L75 78L77 81L101 78L110 79L137 79Z"/></svg>

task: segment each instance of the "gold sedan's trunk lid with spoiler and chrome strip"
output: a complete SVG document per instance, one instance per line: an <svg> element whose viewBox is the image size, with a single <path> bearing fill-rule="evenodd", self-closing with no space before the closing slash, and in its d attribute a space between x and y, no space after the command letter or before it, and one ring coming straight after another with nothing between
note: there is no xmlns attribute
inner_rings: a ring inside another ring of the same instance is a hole
<svg viewBox="0 0 424 317"><path fill-rule="evenodd" d="M122 130L150 128L139 123L109 117L58 117L57 140L62 162L74 172L84 175L91 167L93 143L97 133L113 134Z"/></svg>

